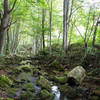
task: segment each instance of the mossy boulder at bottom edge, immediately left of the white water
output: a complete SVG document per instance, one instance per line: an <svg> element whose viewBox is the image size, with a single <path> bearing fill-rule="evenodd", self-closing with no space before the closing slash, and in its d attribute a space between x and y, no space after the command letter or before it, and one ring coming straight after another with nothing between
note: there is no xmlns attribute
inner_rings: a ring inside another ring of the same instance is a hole
<svg viewBox="0 0 100 100"><path fill-rule="evenodd" d="M54 100L54 94L45 89L40 92L40 97L42 100Z"/></svg>

